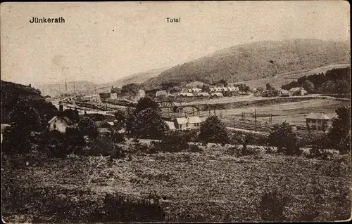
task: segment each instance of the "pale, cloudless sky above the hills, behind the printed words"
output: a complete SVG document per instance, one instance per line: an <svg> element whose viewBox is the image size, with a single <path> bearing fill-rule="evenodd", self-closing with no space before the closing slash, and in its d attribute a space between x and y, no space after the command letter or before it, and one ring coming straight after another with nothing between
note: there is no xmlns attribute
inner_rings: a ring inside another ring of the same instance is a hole
<svg viewBox="0 0 352 224"><path fill-rule="evenodd" d="M350 40L347 1L20 2L0 8L1 80L20 84L105 83L254 41ZM32 17L65 22L30 23Z"/></svg>

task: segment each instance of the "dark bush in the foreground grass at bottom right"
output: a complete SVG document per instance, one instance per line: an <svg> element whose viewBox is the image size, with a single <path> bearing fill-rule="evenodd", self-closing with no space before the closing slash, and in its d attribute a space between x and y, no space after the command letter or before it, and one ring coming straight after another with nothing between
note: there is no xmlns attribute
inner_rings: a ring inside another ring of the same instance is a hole
<svg viewBox="0 0 352 224"><path fill-rule="evenodd" d="M287 195L276 190L265 193L260 200L258 212L263 221L282 222L285 220L284 207L288 202Z"/></svg>

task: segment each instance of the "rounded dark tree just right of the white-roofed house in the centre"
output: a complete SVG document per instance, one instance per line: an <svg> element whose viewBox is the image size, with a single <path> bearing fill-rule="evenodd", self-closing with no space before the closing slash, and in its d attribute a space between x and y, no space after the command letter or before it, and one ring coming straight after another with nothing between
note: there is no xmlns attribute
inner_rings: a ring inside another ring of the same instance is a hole
<svg viewBox="0 0 352 224"><path fill-rule="evenodd" d="M199 139L210 143L230 142L226 126L217 116L208 117L201 124Z"/></svg>

